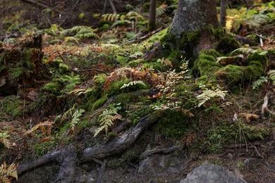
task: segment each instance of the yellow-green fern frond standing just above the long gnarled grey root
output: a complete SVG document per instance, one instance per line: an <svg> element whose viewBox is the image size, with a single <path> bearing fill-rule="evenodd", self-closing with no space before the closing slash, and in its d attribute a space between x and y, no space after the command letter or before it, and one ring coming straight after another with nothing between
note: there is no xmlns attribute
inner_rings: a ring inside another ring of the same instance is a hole
<svg viewBox="0 0 275 183"><path fill-rule="evenodd" d="M105 133L108 133L109 127L114 124L114 120L121 119L120 115L116 112L115 109L105 109L101 115L99 115L100 127L97 128L94 132L94 137L99 134L102 130L105 130Z"/></svg>

